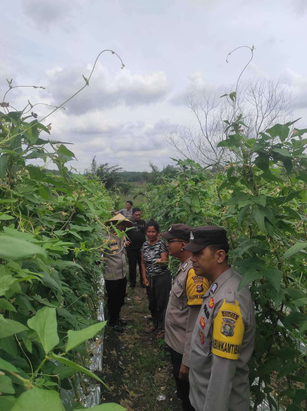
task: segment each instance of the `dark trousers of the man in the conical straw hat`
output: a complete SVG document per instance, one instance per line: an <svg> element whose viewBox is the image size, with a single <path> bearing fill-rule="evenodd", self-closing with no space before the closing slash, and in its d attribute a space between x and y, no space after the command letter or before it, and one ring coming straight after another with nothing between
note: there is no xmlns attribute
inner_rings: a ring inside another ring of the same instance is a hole
<svg viewBox="0 0 307 411"><path fill-rule="evenodd" d="M126 294L127 278L119 280L105 280L105 289L107 291L107 307L109 313L109 324L116 323L119 319L119 312L124 304Z"/></svg>

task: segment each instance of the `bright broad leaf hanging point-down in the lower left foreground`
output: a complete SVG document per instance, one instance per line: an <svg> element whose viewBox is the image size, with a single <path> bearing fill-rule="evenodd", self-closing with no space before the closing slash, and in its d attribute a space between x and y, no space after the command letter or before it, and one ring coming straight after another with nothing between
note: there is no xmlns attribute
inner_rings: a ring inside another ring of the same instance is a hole
<svg viewBox="0 0 307 411"><path fill-rule="evenodd" d="M57 335L57 315L55 308L44 307L28 319L27 324L35 330L46 354L60 341Z"/></svg>

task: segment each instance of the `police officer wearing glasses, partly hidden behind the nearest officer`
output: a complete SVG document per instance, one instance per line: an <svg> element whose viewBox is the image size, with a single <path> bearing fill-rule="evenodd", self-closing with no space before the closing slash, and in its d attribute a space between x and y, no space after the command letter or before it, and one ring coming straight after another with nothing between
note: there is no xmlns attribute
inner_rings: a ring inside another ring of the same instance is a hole
<svg viewBox="0 0 307 411"><path fill-rule="evenodd" d="M165 315L165 342L170 346L177 395L184 411L195 411L189 400L190 343L204 293L209 287L208 280L195 274L190 261L192 253L182 248L189 242L190 231L185 224L172 224L169 231L161 233L167 240L169 254L181 261Z"/></svg>

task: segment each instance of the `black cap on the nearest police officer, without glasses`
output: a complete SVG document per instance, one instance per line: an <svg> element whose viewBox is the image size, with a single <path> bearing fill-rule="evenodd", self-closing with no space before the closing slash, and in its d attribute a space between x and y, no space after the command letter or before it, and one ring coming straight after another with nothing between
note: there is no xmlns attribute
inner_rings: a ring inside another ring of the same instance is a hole
<svg viewBox="0 0 307 411"><path fill-rule="evenodd" d="M197 252L208 245L227 244L227 233L217 226L202 226L190 231L190 242L183 249Z"/></svg>

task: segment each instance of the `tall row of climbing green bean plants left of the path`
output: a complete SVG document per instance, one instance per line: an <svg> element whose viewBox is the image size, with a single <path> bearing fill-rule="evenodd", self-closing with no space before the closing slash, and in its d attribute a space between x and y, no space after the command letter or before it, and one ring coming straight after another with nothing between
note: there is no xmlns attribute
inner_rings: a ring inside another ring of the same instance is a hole
<svg viewBox="0 0 307 411"><path fill-rule="evenodd" d="M28 115L30 102L21 111L5 99L0 106L0 409L84 408L77 377L104 384L89 371L86 342L105 326L97 321L97 263L113 201L97 178L69 169L75 155L49 139L48 116ZM43 171L50 165L59 175ZM71 386L76 402L64 406L60 389Z"/></svg>

